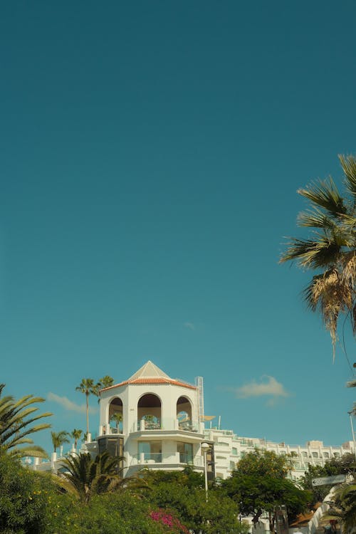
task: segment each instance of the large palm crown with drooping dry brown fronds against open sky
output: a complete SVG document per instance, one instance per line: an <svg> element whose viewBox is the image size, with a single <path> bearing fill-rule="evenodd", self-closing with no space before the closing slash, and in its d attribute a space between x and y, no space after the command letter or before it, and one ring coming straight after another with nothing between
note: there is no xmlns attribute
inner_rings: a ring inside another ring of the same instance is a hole
<svg viewBox="0 0 356 534"><path fill-rule="evenodd" d="M308 307L321 313L330 332L333 359L337 321L350 316L356 333L356 157L339 156L345 176L342 197L333 179L311 184L298 193L310 207L298 216L298 226L313 229L309 239L290 238L280 263L297 261L298 266L318 271L303 291Z"/></svg>

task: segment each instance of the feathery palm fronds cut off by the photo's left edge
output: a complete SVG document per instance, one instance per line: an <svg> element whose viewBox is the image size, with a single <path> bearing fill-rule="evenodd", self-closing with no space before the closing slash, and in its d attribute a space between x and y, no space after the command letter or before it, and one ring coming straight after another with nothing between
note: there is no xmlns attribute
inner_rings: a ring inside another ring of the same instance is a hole
<svg viewBox="0 0 356 534"><path fill-rule="evenodd" d="M33 395L25 395L17 401L11 395L1 397L4 387L5 384L0 384L0 450L10 451L14 456L47 458L46 451L33 445L33 440L28 437L34 432L48 429L51 426L48 423L31 426L39 419L52 415L50 412L34 415L38 407L33 406L33 404L44 402L44 399L33 397ZM28 444L28 446L18 449L18 446L23 444Z"/></svg>

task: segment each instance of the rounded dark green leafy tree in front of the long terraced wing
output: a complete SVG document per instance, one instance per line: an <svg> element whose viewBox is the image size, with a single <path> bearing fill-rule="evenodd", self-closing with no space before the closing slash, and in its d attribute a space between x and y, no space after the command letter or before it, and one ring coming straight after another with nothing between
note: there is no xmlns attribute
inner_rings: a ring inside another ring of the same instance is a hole
<svg viewBox="0 0 356 534"><path fill-rule="evenodd" d="M256 449L242 458L231 476L221 483L221 491L239 503L242 515L253 515L257 523L263 511L268 512L273 532L276 507L286 505L288 516L303 512L310 499L286 478L290 471L290 457L272 451Z"/></svg>

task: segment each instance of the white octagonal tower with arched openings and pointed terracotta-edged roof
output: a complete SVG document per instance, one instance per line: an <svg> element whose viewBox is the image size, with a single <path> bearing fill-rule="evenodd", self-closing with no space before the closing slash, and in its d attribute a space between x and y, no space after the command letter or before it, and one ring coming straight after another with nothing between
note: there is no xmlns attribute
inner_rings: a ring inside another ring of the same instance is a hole
<svg viewBox="0 0 356 534"><path fill-rule="evenodd" d="M149 361L100 391L99 434L88 450L125 456L125 476L141 467L176 470L187 464L204 471L201 405L198 385L172 379Z"/></svg>

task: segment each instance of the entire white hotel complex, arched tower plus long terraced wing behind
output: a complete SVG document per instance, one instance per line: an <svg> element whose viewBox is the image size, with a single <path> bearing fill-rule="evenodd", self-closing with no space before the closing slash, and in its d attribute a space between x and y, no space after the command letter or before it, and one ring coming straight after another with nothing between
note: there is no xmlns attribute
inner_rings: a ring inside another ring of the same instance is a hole
<svg viewBox="0 0 356 534"><path fill-rule="evenodd" d="M210 446L209 478L227 478L239 459L256 448L291 454L291 478L303 476L308 464L324 465L333 457L355 454L352 441L337 447L324 446L322 441L308 441L305 446L277 444L237 436L232 430L205 429L206 419L202 379L194 385L172 379L149 361L129 379L101 390L98 436L82 450L123 456L124 476L131 476L142 467L177 470L190 464L204 471L201 444L205 442ZM51 464L36 461L34 468L56 470L60 465L61 459L53 456Z"/></svg>

